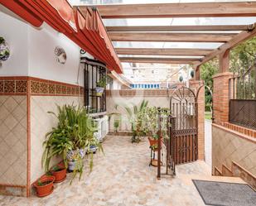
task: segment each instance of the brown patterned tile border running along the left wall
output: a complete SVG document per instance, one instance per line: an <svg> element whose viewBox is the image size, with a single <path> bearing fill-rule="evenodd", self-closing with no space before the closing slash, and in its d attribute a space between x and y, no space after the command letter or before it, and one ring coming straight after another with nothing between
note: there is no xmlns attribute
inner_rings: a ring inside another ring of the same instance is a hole
<svg viewBox="0 0 256 206"><path fill-rule="evenodd" d="M0 95L28 93L33 96L83 96L84 88L34 77L0 77Z"/></svg>

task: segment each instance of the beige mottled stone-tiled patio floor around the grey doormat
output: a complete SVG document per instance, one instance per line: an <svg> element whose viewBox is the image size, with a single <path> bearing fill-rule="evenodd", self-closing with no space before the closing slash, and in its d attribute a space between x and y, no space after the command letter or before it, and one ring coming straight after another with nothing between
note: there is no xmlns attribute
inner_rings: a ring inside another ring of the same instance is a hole
<svg viewBox="0 0 256 206"><path fill-rule="evenodd" d="M90 174L86 170L82 180L56 184L53 194L42 199L0 196L0 205L200 206L204 203L192 179L243 183L237 178L211 177L203 161L179 165L176 177L157 180L156 168L148 166L147 140L132 144L130 137L107 137L104 153L95 155L94 170Z"/></svg>

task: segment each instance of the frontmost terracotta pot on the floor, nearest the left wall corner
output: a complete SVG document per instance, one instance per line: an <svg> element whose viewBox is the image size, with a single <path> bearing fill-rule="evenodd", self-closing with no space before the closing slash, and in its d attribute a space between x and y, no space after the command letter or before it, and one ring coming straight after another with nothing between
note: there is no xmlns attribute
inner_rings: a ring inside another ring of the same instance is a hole
<svg viewBox="0 0 256 206"><path fill-rule="evenodd" d="M51 194L53 191L53 182L56 180L54 176L43 176L40 178L41 183L44 184L46 182L49 182L45 185L38 185L38 180L33 184L33 186L36 188L36 194L38 197L45 197L48 194Z"/></svg>

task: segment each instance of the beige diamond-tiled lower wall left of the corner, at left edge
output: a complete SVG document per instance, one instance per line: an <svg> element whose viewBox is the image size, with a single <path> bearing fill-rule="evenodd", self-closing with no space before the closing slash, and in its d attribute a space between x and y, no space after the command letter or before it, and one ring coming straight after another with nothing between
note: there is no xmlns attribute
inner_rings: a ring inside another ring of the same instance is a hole
<svg viewBox="0 0 256 206"><path fill-rule="evenodd" d="M24 196L27 186L27 96L0 95L0 113L0 194Z"/></svg>

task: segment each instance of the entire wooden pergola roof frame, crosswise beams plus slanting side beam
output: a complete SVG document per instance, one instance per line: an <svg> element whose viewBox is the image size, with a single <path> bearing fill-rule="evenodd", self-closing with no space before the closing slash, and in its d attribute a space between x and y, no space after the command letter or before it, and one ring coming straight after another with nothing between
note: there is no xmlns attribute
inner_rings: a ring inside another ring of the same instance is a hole
<svg viewBox="0 0 256 206"><path fill-rule="evenodd" d="M191 2L95 5L102 18L161 18L161 17L256 17L256 2ZM80 6L80 11L84 7ZM107 26L112 41L142 42L219 42L217 49L167 49L167 48L115 48L122 62L201 64L225 53L225 50L256 35L252 25L198 25L198 26ZM153 56L176 55L182 58L156 58ZM192 58L193 56L200 58ZM187 58L191 56L191 58Z"/></svg>

